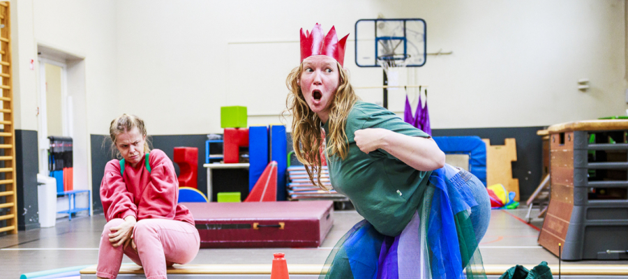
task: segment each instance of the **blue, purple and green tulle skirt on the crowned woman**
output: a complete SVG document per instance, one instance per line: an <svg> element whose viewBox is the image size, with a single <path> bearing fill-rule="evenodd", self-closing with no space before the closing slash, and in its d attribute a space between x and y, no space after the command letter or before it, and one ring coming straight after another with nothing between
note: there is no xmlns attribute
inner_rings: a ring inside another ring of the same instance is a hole
<svg viewBox="0 0 628 279"><path fill-rule="evenodd" d="M470 179L472 174L449 166L434 171L421 206L401 234L380 234L362 220L338 241L320 277L486 278L477 249L479 230L470 219L479 205L468 190Z"/></svg>

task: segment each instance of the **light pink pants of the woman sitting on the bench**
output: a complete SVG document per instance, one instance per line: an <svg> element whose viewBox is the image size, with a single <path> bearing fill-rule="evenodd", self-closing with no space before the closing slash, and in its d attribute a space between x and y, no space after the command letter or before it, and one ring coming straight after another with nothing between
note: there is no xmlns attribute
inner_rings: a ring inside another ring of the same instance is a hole
<svg viewBox="0 0 628 279"><path fill-rule="evenodd" d="M133 239L137 252L130 245L124 251L122 246L113 247L108 236L110 228L122 222L124 220L119 218L110 220L103 229L98 248L98 277L116 278L123 252L135 264L144 267L147 279L166 278L167 266L191 262L198 253L198 230L190 223L165 219L144 219L135 224Z"/></svg>

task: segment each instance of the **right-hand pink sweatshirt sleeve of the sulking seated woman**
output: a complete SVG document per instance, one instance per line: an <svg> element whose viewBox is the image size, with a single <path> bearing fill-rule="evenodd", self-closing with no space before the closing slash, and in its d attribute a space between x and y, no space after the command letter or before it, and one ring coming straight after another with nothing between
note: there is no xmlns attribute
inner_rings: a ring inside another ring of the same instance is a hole
<svg viewBox="0 0 628 279"><path fill-rule="evenodd" d="M147 218L174 219L177 213L179 180L174 165L163 151L151 151L151 181L144 189L137 206L138 220Z"/></svg>

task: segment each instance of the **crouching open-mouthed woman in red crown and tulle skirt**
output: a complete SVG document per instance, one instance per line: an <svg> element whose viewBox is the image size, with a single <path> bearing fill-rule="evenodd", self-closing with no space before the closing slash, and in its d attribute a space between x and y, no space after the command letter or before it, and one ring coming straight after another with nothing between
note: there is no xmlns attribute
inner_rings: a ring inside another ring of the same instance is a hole
<svg viewBox="0 0 628 279"><path fill-rule="evenodd" d="M325 36L319 24L301 29L301 65L286 80L297 158L324 188L326 146L331 185L365 218L339 241L322 276L485 276L477 250L491 214L484 185L446 165L429 135L359 100L343 68L346 38L334 27Z"/></svg>

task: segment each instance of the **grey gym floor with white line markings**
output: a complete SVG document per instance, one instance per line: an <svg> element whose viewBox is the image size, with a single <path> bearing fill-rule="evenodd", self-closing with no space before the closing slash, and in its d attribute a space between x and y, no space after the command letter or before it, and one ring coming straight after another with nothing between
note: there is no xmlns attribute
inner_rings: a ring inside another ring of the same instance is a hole
<svg viewBox="0 0 628 279"><path fill-rule="evenodd" d="M484 264L558 264L558 257L537 245L542 220L523 222L527 209L493 210L491 225L480 243ZM534 215L532 210L532 216ZM536 212L538 213L538 211ZM320 248L201 249L190 264L271 264L274 252L285 252L288 264L323 264L347 230L361 220L356 211L334 211L334 227ZM78 216L57 225L0 236L0 278L22 273L96 264L105 216ZM126 258L123 262L130 262ZM579 261L562 264L628 264L628 261ZM554 271L558 274L557 271Z"/></svg>

